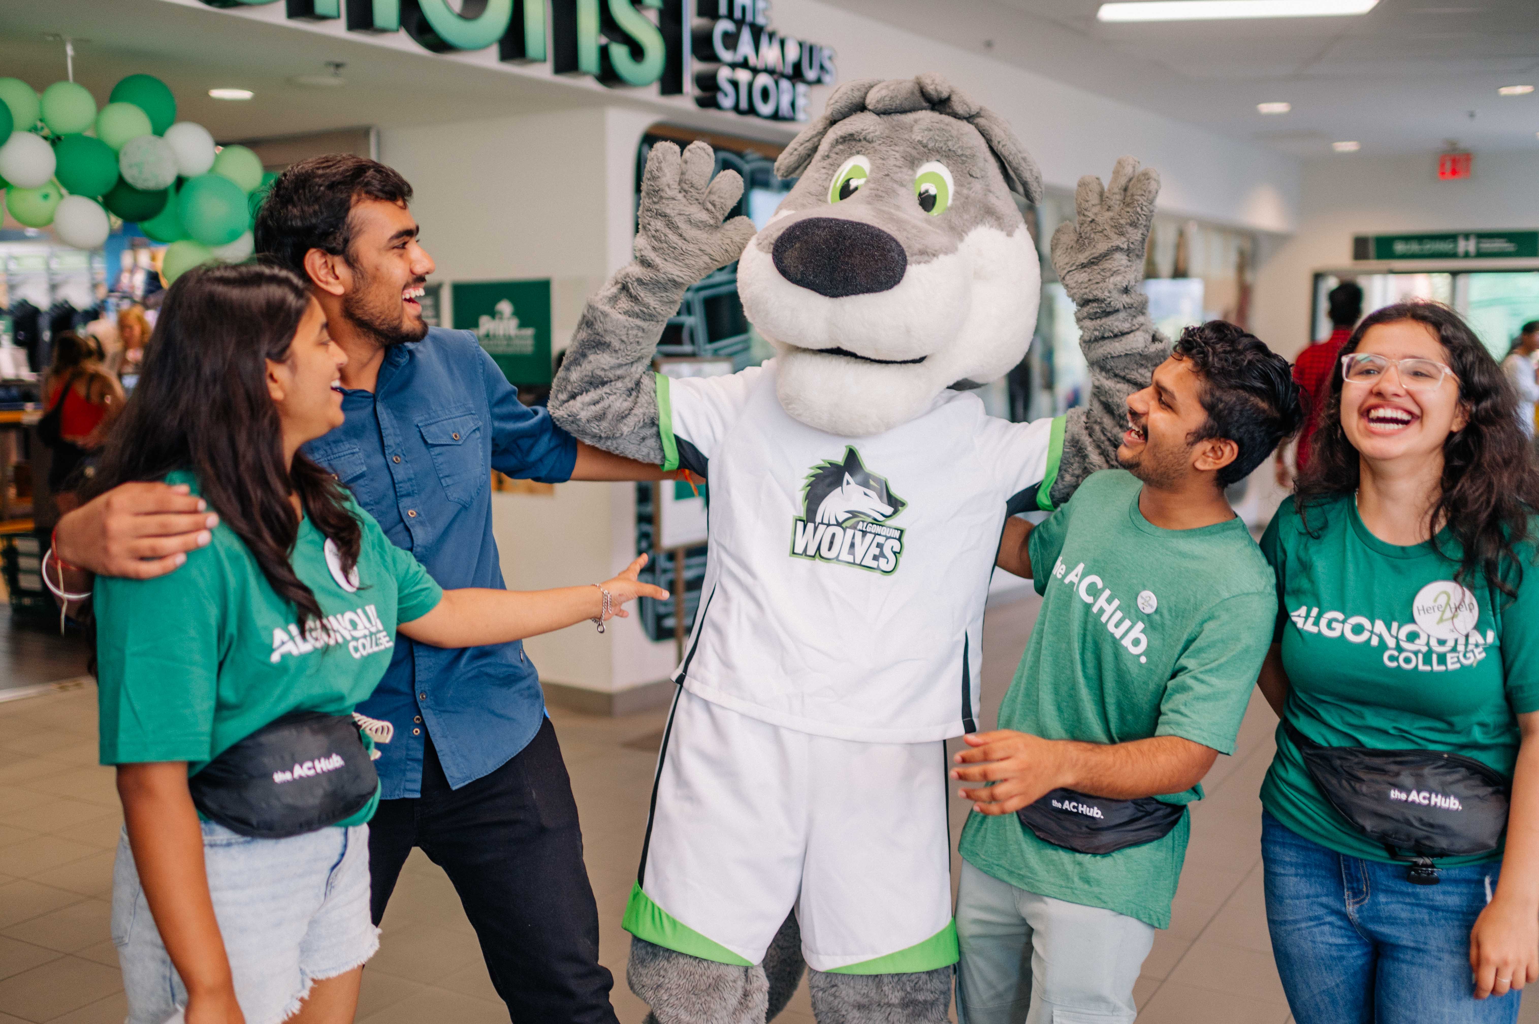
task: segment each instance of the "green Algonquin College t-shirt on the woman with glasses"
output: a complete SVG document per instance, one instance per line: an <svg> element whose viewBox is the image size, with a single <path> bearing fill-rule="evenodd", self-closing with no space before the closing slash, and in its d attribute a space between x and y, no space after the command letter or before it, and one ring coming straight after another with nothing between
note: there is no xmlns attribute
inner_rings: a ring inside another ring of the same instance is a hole
<svg viewBox="0 0 1539 1024"><path fill-rule="evenodd" d="M1453 537L1441 540L1457 557ZM1284 502L1260 544L1277 574L1276 639L1294 728L1328 747L1450 750L1511 776L1516 716L1539 710L1531 544L1517 548L1525 571L1516 602L1484 581L1473 591L1459 587L1457 561L1431 544L1399 547L1373 536L1351 497L1311 507L1307 520ZM1260 799L1307 839L1391 861L1320 796L1280 725ZM1501 850L1439 862L1497 858Z"/></svg>

